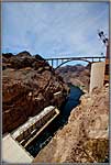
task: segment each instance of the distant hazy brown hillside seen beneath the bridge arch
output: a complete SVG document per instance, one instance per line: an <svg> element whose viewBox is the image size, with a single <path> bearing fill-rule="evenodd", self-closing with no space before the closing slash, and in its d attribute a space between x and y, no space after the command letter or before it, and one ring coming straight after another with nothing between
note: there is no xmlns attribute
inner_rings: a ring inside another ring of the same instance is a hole
<svg viewBox="0 0 111 165"><path fill-rule="evenodd" d="M90 65L67 65L58 68L56 73L63 77L66 84L71 84L81 87L84 90L88 91L90 81Z"/></svg>

